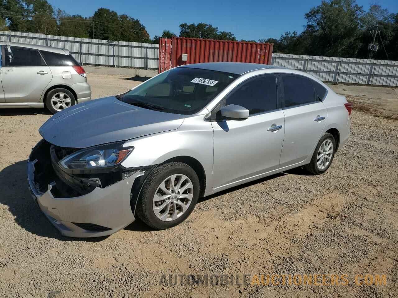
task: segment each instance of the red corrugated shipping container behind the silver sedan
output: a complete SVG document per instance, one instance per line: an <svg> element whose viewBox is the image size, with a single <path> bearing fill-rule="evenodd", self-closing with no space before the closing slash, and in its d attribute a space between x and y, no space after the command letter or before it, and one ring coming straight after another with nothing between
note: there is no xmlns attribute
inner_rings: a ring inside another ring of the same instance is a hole
<svg viewBox="0 0 398 298"><path fill-rule="evenodd" d="M159 73L202 62L271 64L273 43L173 37L159 39Z"/></svg>

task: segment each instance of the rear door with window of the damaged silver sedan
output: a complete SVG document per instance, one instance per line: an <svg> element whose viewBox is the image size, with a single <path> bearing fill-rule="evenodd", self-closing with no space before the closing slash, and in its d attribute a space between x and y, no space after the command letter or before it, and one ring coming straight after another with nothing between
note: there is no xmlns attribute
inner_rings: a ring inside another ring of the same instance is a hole
<svg viewBox="0 0 398 298"><path fill-rule="evenodd" d="M283 168L308 157L322 134L328 114L309 78L292 74L280 77L285 139L279 167Z"/></svg>

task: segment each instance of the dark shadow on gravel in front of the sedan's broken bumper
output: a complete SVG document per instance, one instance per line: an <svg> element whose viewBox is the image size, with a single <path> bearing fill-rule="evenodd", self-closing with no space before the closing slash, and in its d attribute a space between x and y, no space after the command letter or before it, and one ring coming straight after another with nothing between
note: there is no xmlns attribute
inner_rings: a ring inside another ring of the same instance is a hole
<svg viewBox="0 0 398 298"><path fill-rule="evenodd" d="M39 206L33 201L27 188L27 160L18 161L0 172L0 204L7 205L21 228L37 236L54 238L60 241L99 242L108 238L70 238L64 237L48 221Z"/></svg>

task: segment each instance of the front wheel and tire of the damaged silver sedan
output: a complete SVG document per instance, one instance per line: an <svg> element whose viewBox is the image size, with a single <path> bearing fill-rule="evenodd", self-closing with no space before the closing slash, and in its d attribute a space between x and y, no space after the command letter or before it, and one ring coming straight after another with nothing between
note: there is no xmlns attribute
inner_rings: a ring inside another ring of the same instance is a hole
<svg viewBox="0 0 398 298"><path fill-rule="evenodd" d="M171 179L174 179L174 188ZM199 187L197 174L187 164L161 164L146 178L137 201L136 214L144 223L157 230L176 226L195 208ZM178 190L182 192L179 193Z"/></svg>

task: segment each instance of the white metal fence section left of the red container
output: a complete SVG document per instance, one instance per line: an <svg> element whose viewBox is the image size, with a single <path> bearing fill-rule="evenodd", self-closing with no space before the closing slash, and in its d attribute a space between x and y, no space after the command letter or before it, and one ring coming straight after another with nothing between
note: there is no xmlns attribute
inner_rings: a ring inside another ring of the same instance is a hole
<svg viewBox="0 0 398 298"><path fill-rule="evenodd" d="M0 41L68 49L81 64L158 69L159 45L0 31Z"/></svg>

